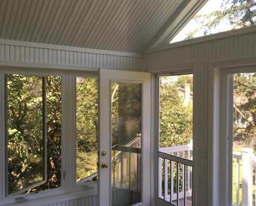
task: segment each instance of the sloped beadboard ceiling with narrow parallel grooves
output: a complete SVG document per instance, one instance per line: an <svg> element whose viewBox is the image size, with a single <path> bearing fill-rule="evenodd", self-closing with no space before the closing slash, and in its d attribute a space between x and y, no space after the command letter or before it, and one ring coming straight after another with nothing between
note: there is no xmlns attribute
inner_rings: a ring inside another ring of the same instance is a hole
<svg viewBox="0 0 256 206"><path fill-rule="evenodd" d="M189 2L0 0L0 39L141 53Z"/></svg>

